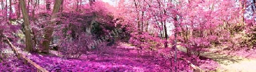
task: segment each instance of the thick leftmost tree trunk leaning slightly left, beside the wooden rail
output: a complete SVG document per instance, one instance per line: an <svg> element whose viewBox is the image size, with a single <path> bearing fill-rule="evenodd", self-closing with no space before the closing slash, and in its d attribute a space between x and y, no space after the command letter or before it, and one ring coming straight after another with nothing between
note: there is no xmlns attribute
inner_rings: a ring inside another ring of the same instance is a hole
<svg viewBox="0 0 256 72"><path fill-rule="evenodd" d="M25 25L25 38L26 38L26 51L32 51L32 42L31 42L31 31L30 31L30 22L28 19L28 13L26 10L26 4L24 0L19 0L20 7L22 9L22 16Z"/></svg>

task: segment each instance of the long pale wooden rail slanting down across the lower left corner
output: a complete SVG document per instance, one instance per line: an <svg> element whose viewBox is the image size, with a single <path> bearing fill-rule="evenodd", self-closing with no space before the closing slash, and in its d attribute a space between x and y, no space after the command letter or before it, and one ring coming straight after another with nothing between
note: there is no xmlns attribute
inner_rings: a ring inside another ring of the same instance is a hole
<svg viewBox="0 0 256 72"><path fill-rule="evenodd" d="M30 59L28 59L26 56L24 56L22 53L19 53L19 51L16 49L16 47L10 42L10 40L6 37L7 43L9 44L9 46L11 48L13 48L13 51L15 53L15 55L17 55L18 59L20 59L19 57L22 57L23 59L25 59L25 64L26 62L29 62L30 64L32 64L33 66L35 66L38 69L38 72L42 71L42 72L48 72L48 70L42 68L40 65L36 64L35 62L31 61Z"/></svg>

